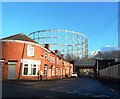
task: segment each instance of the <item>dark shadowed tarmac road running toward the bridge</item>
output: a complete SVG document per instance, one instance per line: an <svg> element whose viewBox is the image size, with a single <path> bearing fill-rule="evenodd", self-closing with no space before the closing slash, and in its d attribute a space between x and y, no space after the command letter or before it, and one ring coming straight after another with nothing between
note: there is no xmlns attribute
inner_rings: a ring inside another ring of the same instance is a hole
<svg viewBox="0 0 120 99"><path fill-rule="evenodd" d="M120 99L120 93L101 84L95 78L81 77L55 81L3 81L2 97L38 99Z"/></svg>

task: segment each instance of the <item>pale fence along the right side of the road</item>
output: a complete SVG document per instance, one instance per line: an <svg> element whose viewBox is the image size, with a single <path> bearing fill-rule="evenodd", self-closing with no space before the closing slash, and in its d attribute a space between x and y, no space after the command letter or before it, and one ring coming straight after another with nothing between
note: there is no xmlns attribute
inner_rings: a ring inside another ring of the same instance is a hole
<svg viewBox="0 0 120 99"><path fill-rule="evenodd" d="M99 70L99 76L120 80L120 64Z"/></svg>

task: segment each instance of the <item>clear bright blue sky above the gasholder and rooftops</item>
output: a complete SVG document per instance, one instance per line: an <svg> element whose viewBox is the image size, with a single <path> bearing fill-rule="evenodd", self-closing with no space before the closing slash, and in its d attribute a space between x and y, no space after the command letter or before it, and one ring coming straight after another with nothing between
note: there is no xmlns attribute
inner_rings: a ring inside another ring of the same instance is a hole
<svg viewBox="0 0 120 99"><path fill-rule="evenodd" d="M3 2L2 38L44 29L88 37L89 52L118 46L117 2Z"/></svg>

